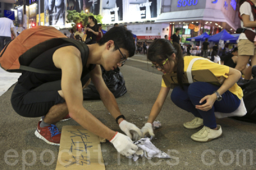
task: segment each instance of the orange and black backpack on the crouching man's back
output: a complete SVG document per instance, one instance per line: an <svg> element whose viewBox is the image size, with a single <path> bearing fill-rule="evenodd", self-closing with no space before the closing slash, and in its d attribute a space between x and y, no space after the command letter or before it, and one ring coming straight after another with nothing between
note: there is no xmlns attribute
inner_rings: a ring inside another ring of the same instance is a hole
<svg viewBox="0 0 256 170"><path fill-rule="evenodd" d="M7 72L21 73L22 70L36 73L60 73L29 67L30 63L46 50L65 43L73 43L81 52L82 61L88 58L87 45L67 38L58 29L51 26L36 26L25 29L17 38L6 44L0 52L0 66ZM86 63L83 63L86 65Z"/></svg>

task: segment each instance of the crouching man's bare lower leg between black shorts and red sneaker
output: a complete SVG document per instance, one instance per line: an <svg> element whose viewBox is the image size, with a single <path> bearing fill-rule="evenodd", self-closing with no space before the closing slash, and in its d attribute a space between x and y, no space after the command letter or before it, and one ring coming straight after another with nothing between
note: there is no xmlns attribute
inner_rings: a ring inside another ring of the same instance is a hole
<svg viewBox="0 0 256 170"><path fill-rule="evenodd" d="M49 112L45 115L44 122L49 124L55 124L62 120L68 114L68 107L66 102L63 104L57 104L51 107Z"/></svg>

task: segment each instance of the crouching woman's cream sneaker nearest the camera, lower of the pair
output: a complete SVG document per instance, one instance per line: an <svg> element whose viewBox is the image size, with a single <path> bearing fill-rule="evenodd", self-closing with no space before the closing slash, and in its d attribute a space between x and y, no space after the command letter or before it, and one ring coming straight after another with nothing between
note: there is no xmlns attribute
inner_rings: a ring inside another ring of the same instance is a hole
<svg viewBox="0 0 256 170"><path fill-rule="evenodd" d="M191 139L198 142L208 142L212 139L217 139L222 135L221 126L217 125L217 128L218 130L213 130L209 127L204 127L195 134L191 135Z"/></svg>

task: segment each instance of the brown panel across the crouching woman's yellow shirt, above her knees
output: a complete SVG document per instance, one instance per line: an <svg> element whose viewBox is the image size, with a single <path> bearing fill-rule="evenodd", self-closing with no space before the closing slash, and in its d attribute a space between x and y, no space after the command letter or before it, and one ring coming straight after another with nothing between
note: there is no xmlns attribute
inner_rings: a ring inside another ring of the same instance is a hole
<svg viewBox="0 0 256 170"><path fill-rule="evenodd" d="M193 82L209 82L211 84L221 86L225 81L225 77L221 76L220 79L218 79L210 70L194 70L191 73ZM173 88L175 85L179 85L177 73L165 74L163 75L163 80L167 88ZM183 84L189 84L186 72L184 72L182 81Z"/></svg>

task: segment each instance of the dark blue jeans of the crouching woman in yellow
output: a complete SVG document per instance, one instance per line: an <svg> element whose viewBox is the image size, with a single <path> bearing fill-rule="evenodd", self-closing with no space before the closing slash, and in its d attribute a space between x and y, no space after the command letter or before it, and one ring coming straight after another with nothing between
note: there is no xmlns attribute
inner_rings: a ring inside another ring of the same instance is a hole
<svg viewBox="0 0 256 170"><path fill-rule="evenodd" d="M171 94L172 102L181 109L191 112L196 118L204 120L205 127L216 128L216 118L214 112L230 113L236 111L241 100L231 93L226 91L222 96L222 100L214 102L212 109L209 111L201 111L195 108L195 105L203 105L206 100L199 104L200 100L207 95L212 95L220 87L207 82L193 82L192 84L184 85L184 90L177 86Z"/></svg>

